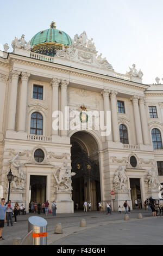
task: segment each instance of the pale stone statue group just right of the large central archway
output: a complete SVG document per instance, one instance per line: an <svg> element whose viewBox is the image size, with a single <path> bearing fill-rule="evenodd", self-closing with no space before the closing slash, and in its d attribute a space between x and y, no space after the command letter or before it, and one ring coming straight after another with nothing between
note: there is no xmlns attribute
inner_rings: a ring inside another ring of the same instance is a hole
<svg viewBox="0 0 163 256"><path fill-rule="evenodd" d="M128 191L129 189L126 186L126 182L128 181L128 177L126 174L126 170L119 166L118 169L115 171L114 174L114 189L121 190L121 191Z"/></svg>

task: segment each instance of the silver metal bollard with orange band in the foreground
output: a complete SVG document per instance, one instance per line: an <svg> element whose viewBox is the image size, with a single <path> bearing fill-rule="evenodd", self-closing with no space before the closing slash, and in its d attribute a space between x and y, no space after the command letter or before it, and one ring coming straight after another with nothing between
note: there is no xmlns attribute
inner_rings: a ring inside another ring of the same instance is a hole
<svg viewBox="0 0 163 256"><path fill-rule="evenodd" d="M47 221L38 216L28 219L28 232L32 231L32 245L47 245Z"/></svg>

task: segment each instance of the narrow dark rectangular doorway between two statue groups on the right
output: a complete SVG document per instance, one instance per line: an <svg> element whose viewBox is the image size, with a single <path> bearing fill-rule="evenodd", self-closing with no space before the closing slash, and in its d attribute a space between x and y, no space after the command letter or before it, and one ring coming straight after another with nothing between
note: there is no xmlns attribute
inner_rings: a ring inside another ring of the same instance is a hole
<svg viewBox="0 0 163 256"><path fill-rule="evenodd" d="M142 200L141 200L141 188L140 188L140 178L130 178L130 189L131 189L131 201L133 204L133 209L136 209L135 199L140 201L139 208L142 209Z"/></svg>

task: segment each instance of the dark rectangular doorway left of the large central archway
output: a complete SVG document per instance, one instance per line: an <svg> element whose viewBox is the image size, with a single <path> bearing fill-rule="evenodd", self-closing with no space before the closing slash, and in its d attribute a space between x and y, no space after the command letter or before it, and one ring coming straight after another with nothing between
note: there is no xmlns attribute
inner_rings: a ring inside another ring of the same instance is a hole
<svg viewBox="0 0 163 256"><path fill-rule="evenodd" d="M30 175L30 201L42 204L46 201L47 176Z"/></svg>

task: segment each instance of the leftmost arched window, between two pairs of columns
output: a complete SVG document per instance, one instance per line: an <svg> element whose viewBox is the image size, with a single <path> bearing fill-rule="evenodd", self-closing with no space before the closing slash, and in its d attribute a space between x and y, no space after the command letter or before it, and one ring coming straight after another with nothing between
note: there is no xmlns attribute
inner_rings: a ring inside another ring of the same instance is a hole
<svg viewBox="0 0 163 256"><path fill-rule="evenodd" d="M43 117L40 113L34 112L30 118L30 134L42 135Z"/></svg>

